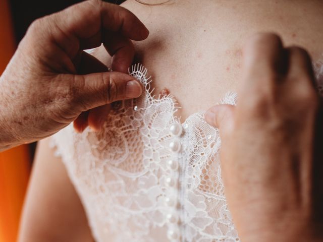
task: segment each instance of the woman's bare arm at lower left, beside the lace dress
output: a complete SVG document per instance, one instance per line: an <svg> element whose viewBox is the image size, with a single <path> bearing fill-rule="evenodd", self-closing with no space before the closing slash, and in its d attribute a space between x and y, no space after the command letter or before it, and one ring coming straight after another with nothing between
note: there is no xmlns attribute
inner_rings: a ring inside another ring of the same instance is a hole
<svg viewBox="0 0 323 242"><path fill-rule="evenodd" d="M37 145L19 241L93 241L80 199L49 139Z"/></svg>

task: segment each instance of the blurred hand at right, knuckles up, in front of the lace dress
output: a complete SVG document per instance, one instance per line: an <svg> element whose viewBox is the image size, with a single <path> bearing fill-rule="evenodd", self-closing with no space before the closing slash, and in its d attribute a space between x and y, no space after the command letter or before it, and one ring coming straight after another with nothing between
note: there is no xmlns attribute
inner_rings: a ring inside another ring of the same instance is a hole
<svg viewBox="0 0 323 242"><path fill-rule="evenodd" d="M205 115L220 129L225 194L242 241L321 241L320 101L305 50L260 34L244 49L236 107Z"/></svg>

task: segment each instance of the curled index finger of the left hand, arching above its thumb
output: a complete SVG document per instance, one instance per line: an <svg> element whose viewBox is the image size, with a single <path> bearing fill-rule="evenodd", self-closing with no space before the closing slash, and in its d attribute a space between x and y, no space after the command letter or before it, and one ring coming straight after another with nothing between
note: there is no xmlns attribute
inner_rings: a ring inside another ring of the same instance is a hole
<svg viewBox="0 0 323 242"><path fill-rule="evenodd" d="M47 29L55 42L74 58L77 51L98 47L106 32L143 40L149 31L129 10L99 0L89 0L49 16ZM47 21L46 21L47 22Z"/></svg>

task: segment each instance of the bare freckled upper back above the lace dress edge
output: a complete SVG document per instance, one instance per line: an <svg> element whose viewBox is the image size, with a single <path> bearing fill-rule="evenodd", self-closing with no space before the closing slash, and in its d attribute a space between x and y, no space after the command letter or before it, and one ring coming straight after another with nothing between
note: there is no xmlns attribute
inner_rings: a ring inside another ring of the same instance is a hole
<svg viewBox="0 0 323 242"><path fill-rule="evenodd" d="M142 19L150 30L147 40L136 42L135 47L144 56L140 63L152 76L155 94L164 87L169 88L181 103L177 115L184 120L218 102L228 91L237 91L242 75L241 49L257 32L275 32L286 43L304 46L310 52L323 52L321 44L321 47L310 44L313 36L322 39L323 31L317 23L323 19L319 17L323 12L319 5L323 4L295 1L277 0L278 4L275 0L248 1L248 4L202 1L197 4L176 0L172 5L147 7L128 0L123 6ZM299 18L305 5L312 13L306 16L306 21ZM314 9L320 14L314 13ZM300 32L299 25L303 25ZM292 33L297 33L297 38ZM230 72L226 69L228 66Z"/></svg>

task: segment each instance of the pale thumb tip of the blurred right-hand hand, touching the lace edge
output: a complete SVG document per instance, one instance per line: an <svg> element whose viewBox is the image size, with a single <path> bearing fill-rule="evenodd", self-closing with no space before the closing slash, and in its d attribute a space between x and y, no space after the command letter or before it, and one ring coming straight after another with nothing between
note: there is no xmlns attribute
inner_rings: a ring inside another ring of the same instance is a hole
<svg viewBox="0 0 323 242"><path fill-rule="evenodd" d="M229 104L213 106L206 111L205 121L221 131L232 124L234 108Z"/></svg>

